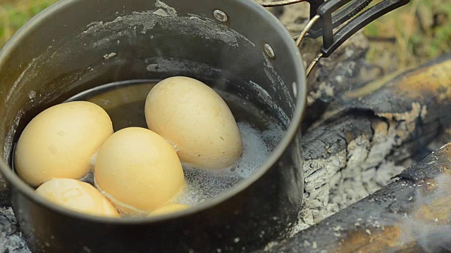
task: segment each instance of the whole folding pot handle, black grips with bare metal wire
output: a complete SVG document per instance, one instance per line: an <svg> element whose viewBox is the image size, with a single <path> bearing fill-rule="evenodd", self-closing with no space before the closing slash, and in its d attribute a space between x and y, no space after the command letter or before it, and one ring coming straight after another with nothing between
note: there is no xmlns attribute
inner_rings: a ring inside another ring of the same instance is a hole
<svg viewBox="0 0 451 253"><path fill-rule="evenodd" d="M296 39L296 45L299 47L304 37L312 39L323 37L321 50L309 67L307 67L306 75L309 77L311 70L313 70L319 60L328 58L352 34L355 34L386 13L408 4L410 0L383 0L375 6L366 9L366 11L364 9L373 0L284 0L261 5L264 7L285 6L302 1L307 1L310 5L310 21L301 34L294 38ZM350 21L347 22L348 20ZM345 22L347 23L343 25ZM334 33L333 29L340 25L343 26Z"/></svg>

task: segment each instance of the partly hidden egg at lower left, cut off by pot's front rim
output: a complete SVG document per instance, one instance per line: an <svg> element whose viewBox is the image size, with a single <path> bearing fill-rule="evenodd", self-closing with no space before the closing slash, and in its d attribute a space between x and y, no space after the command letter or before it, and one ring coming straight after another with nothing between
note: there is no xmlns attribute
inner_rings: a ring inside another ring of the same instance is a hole
<svg viewBox="0 0 451 253"><path fill-rule="evenodd" d="M119 217L113 204L89 183L75 179L51 179L39 186L35 192L56 205L75 212Z"/></svg>

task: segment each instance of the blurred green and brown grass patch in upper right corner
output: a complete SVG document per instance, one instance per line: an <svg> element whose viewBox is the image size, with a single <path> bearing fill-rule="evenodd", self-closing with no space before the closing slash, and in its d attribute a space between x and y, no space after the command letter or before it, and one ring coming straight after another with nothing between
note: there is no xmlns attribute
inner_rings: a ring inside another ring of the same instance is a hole
<svg viewBox="0 0 451 253"><path fill-rule="evenodd" d="M392 54L397 67L405 68L450 52L450 23L451 0L412 0L365 28L368 59L387 66L383 62Z"/></svg>

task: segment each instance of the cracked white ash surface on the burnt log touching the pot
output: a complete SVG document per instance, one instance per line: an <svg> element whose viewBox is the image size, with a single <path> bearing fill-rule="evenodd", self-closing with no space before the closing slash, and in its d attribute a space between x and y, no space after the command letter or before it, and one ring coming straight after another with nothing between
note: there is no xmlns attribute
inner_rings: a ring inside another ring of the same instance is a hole
<svg viewBox="0 0 451 253"><path fill-rule="evenodd" d="M404 114L381 114L387 122L373 123L372 138L358 136L335 155L305 160L304 202L292 235L371 195L404 170L387 157L412 134L421 108L415 104Z"/></svg>

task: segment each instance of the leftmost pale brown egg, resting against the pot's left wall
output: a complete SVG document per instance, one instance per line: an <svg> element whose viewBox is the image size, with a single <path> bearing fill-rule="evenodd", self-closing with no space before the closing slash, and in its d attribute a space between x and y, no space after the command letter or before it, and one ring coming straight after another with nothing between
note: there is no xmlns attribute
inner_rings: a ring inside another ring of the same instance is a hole
<svg viewBox="0 0 451 253"><path fill-rule="evenodd" d="M33 187L50 179L82 179L111 134L111 119L99 105L85 101L54 105L23 130L14 166Z"/></svg>

